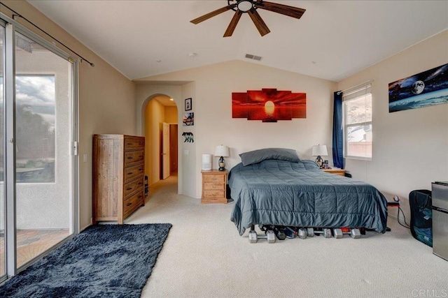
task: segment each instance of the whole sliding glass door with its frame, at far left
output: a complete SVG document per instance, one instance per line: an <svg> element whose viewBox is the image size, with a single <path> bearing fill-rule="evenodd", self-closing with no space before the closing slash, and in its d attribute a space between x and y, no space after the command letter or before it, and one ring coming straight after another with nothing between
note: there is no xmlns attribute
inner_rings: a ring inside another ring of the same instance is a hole
<svg viewBox="0 0 448 298"><path fill-rule="evenodd" d="M76 62L13 20L1 29L0 279L76 232L78 165Z"/></svg>

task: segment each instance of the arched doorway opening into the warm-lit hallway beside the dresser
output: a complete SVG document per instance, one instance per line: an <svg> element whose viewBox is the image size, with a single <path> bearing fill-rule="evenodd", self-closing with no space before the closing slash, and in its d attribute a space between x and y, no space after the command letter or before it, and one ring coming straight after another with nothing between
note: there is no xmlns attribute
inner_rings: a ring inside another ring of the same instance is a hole
<svg viewBox="0 0 448 298"><path fill-rule="evenodd" d="M164 94L149 97L142 109L145 147L145 174L149 186L178 172L178 110Z"/></svg>

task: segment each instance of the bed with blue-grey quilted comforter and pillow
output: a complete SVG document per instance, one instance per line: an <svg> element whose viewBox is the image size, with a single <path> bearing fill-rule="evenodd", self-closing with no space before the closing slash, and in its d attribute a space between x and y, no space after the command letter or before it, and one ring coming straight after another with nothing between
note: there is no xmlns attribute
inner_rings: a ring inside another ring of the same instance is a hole
<svg viewBox="0 0 448 298"><path fill-rule="evenodd" d="M231 221L242 235L254 225L365 228L386 232L387 200L363 181L323 172L292 149L240 154L229 173Z"/></svg>

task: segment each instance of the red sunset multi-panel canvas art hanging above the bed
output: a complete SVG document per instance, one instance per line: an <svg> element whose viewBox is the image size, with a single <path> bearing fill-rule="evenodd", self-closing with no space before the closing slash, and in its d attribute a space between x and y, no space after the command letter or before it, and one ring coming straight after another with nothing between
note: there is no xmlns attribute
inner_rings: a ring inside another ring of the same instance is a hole
<svg viewBox="0 0 448 298"><path fill-rule="evenodd" d="M307 94L277 89L232 93L232 118L263 122L307 118Z"/></svg>

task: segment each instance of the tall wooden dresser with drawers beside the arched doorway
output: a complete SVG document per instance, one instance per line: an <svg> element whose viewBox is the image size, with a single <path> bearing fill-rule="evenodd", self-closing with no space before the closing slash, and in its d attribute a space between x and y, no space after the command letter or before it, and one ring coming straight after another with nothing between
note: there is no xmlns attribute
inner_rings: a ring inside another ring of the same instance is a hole
<svg viewBox="0 0 448 298"><path fill-rule="evenodd" d="M144 137L93 135L93 223L121 225L144 206L144 156Z"/></svg>

